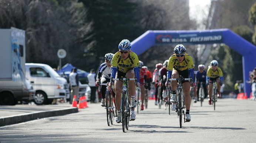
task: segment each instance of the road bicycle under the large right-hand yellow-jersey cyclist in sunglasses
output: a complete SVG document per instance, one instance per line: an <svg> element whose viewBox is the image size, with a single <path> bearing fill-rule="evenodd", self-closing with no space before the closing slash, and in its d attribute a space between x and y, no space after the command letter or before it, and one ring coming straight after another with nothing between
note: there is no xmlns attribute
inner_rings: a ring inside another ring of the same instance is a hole
<svg viewBox="0 0 256 143"><path fill-rule="evenodd" d="M173 79L169 79L168 82L171 81L177 81L178 82L178 86L176 88L176 112L178 113L178 118L179 118L179 127L182 127L182 114L184 115L184 123L186 122L185 120L185 112L184 109L185 104L184 104L184 95L183 95L183 86L182 86L182 82L183 81L190 81L190 78L183 78L181 75L179 76L179 78L173 78Z"/></svg>

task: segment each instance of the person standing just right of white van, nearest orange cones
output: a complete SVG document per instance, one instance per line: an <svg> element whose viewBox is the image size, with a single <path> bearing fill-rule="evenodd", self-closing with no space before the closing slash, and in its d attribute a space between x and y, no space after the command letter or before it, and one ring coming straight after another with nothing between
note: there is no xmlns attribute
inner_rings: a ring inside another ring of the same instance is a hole
<svg viewBox="0 0 256 143"><path fill-rule="evenodd" d="M77 68L73 68L72 72L69 74L69 82L71 89L70 104L72 104L74 95L78 96L79 92L79 79L77 74Z"/></svg>

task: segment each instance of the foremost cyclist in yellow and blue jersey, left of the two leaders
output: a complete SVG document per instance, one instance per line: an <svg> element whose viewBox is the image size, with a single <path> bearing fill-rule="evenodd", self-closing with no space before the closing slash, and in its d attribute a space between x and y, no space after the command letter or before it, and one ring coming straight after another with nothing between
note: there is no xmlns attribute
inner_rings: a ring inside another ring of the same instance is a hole
<svg viewBox="0 0 256 143"><path fill-rule="evenodd" d="M119 45L119 51L114 54L111 62L111 84L114 82L113 78L136 78L137 86L139 87L139 58L137 54L131 51L131 43L129 40L122 40ZM117 106L117 123L121 122L122 113L121 107L121 92L122 92L122 81L115 81L115 103ZM134 81L128 81L129 86L129 98L131 98L131 120L135 120L134 108L137 106L135 100L135 84Z"/></svg>

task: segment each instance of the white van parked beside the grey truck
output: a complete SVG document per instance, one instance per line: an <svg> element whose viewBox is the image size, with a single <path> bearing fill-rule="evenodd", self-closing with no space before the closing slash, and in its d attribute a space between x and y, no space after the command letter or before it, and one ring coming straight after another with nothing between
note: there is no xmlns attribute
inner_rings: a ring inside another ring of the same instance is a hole
<svg viewBox="0 0 256 143"><path fill-rule="evenodd" d="M26 78L33 85L37 105L49 104L53 99L70 98L67 80L47 64L26 63Z"/></svg>

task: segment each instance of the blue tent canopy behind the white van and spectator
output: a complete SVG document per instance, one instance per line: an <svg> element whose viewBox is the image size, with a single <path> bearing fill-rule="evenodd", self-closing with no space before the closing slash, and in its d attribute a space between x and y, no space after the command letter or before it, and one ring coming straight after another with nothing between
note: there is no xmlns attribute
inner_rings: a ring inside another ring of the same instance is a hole
<svg viewBox="0 0 256 143"><path fill-rule="evenodd" d="M67 63L60 70L58 70L57 73L59 75L63 75L63 72L64 72L65 75L69 76L73 68L75 67L72 64ZM77 69L77 74L80 78L87 78L87 75L90 73L83 71L82 69Z"/></svg>

